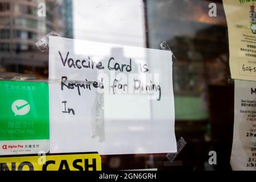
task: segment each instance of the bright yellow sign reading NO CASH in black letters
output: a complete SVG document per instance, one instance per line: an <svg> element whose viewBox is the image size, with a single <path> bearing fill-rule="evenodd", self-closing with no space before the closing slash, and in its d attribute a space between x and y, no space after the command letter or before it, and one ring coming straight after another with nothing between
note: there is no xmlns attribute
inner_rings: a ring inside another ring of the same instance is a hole
<svg viewBox="0 0 256 182"><path fill-rule="evenodd" d="M98 153L0 158L0 171L101 171Z"/></svg>

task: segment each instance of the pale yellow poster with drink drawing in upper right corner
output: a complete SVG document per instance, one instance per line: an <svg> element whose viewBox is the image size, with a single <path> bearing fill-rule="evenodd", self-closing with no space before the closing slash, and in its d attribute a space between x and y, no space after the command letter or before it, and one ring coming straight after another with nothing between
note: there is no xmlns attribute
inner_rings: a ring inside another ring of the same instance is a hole
<svg viewBox="0 0 256 182"><path fill-rule="evenodd" d="M223 0L229 32L231 76L256 81L256 2Z"/></svg>

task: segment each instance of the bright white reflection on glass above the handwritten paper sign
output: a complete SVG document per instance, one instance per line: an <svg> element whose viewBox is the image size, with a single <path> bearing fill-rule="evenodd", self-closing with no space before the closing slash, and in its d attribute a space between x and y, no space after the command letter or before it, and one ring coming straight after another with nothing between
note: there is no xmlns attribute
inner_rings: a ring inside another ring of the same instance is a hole
<svg viewBox="0 0 256 182"><path fill-rule="evenodd" d="M73 1L74 38L144 47L141 0Z"/></svg>

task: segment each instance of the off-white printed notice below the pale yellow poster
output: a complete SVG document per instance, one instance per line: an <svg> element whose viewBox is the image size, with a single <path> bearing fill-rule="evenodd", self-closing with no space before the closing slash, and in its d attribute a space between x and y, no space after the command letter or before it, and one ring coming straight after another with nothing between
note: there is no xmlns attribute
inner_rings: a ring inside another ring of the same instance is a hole
<svg viewBox="0 0 256 182"><path fill-rule="evenodd" d="M256 82L235 80L233 170L256 170Z"/></svg>

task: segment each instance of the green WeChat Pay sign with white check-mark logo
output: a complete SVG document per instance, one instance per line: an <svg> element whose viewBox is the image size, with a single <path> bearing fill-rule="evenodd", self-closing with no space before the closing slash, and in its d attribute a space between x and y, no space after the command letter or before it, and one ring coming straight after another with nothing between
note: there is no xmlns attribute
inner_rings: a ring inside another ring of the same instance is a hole
<svg viewBox="0 0 256 182"><path fill-rule="evenodd" d="M49 139L49 91L44 82L0 81L0 140Z"/></svg>

